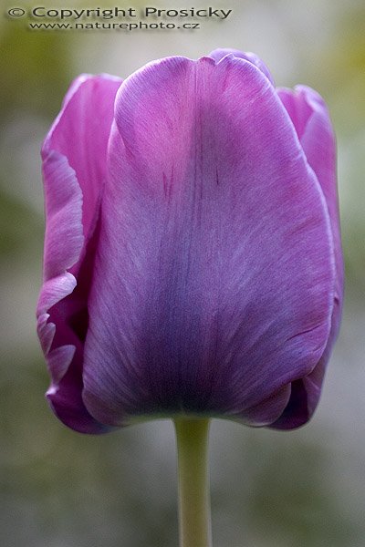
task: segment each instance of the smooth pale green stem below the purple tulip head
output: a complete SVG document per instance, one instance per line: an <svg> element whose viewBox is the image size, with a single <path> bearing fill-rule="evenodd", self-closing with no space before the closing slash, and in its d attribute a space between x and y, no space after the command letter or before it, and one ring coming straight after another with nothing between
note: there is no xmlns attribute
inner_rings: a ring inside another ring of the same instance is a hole
<svg viewBox="0 0 365 547"><path fill-rule="evenodd" d="M211 547L209 419L176 418L180 547Z"/></svg>

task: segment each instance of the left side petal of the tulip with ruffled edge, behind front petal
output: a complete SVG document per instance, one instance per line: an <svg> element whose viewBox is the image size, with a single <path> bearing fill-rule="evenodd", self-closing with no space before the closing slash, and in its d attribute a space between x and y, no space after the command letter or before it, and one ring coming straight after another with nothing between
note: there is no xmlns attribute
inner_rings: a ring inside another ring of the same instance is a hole
<svg viewBox="0 0 365 547"><path fill-rule="evenodd" d="M89 274L106 170L114 98L120 80L79 77L42 149L46 194L44 284L38 335L52 377L47 398L69 427L84 433L106 428L82 398L83 341L88 325ZM76 288L75 288L76 287ZM82 320L81 320L82 318Z"/></svg>

